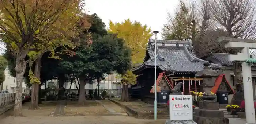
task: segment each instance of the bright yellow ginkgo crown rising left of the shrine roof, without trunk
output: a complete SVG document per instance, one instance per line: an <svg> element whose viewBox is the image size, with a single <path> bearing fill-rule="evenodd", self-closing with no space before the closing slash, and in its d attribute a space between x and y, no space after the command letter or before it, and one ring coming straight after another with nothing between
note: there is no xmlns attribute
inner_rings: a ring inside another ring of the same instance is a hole
<svg viewBox="0 0 256 124"><path fill-rule="evenodd" d="M130 19L124 20L121 23L109 22L108 32L117 34L117 37L123 38L125 44L132 50L132 62L142 63L146 44L152 36L151 29L147 25L142 25L140 22L132 22Z"/></svg>

